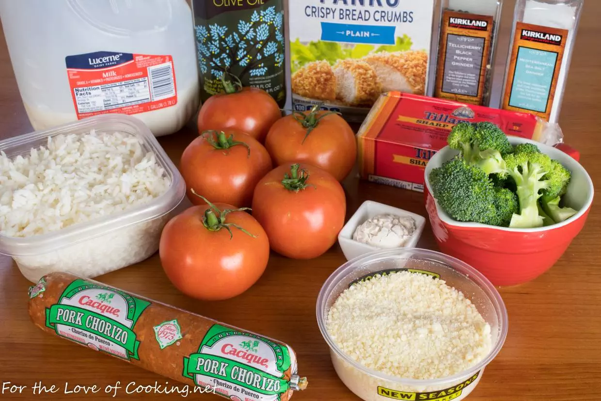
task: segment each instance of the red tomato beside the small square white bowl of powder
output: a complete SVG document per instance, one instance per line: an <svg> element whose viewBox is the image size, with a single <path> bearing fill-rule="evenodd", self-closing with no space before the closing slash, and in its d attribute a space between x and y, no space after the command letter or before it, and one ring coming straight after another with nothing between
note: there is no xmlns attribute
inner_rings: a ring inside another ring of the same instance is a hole
<svg viewBox="0 0 601 401"><path fill-rule="evenodd" d="M252 215L274 251L293 259L313 259L336 242L344 225L346 198L327 171L284 164L257 184Z"/></svg>

